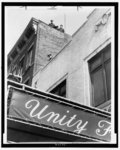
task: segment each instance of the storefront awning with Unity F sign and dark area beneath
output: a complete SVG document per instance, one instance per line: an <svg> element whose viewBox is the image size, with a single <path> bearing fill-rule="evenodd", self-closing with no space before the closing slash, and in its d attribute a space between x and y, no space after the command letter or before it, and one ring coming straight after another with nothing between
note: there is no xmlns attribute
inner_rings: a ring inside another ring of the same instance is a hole
<svg viewBox="0 0 120 150"><path fill-rule="evenodd" d="M8 80L7 141L110 142L111 115Z"/></svg>

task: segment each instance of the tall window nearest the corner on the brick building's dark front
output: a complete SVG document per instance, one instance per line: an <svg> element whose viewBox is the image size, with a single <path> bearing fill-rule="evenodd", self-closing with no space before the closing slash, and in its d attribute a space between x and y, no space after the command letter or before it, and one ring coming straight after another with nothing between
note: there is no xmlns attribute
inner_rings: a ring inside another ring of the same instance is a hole
<svg viewBox="0 0 120 150"><path fill-rule="evenodd" d="M33 44L30 46L29 51L27 53L27 59L26 59L26 69L32 65L32 53L33 53Z"/></svg>

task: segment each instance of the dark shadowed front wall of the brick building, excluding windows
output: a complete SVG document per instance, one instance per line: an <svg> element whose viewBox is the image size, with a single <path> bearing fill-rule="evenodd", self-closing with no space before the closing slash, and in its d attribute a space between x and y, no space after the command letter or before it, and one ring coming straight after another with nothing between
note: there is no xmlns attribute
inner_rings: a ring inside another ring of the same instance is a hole
<svg viewBox="0 0 120 150"><path fill-rule="evenodd" d="M19 39L17 40L17 42L15 43L15 45L13 46L12 50L9 52L8 54L8 60L10 60L11 64L8 65L8 74L11 73L11 69L14 68L15 66L17 67L17 70L20 69L20 61L21 59L24 57L24 66L23 66L23 74L19 74L20 76L22 76L22 83L25 83L26 80L29 78L29 85L31 85L32 83L32 77L33 77L33 66L34 66L34 57L35 57L35 47L36 47L36 27L37 27L37 20L34 18L31 18L30 22L28 23L28 25L26 26L26 28L24 29L23 33L21 34L21 36L19 37ZM28 32L31 31L31 35L30 37L28 37ZM25 44L23 45L23 47L19 47L20 43L22 41L25 41ZM26 69L26 61L27 61L27 57L28 57L28 49L31 46L31 44L34 43L34 47L33 47L33 55L32 55L32 64L31 66L29 66L28 69ZM12 58L11 55L17 51L17 55ZM18 75L18 73L17 73Z"/></svg>

